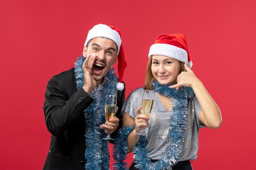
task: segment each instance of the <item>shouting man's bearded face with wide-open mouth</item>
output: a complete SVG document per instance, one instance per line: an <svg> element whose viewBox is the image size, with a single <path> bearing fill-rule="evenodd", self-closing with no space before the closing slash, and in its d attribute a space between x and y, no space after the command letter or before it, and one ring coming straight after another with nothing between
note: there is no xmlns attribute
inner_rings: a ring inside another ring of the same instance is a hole
<svg viewBox="0 0 256 170"><path fill-rule="evenodd" d="M112 64L117 60L117 44L108 38L94 38L83 48L83 56L97 56L93 65L92 77L101 82Z"/></svg>

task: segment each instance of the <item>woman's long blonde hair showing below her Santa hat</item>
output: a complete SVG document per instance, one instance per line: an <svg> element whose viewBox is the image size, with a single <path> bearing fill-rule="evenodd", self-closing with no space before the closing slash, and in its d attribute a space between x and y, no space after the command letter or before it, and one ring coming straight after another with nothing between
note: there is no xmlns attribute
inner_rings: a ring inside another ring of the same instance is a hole
<svg viewBox="0 0 256 170"><path fill-rule="evenodd" d="M186 71L185 66L184 66L185 63L181 62L179 60L178 60L178 62L180 63L180 73L182 71ZM153 82L153 79L154 79L154 76L151 71L151 65L152 65L152 55L150 55L150 57L149 57L147 68L146 68L145 87L144 87L144 89L146 89L146 90L151 90L151 83Z"/></svg>

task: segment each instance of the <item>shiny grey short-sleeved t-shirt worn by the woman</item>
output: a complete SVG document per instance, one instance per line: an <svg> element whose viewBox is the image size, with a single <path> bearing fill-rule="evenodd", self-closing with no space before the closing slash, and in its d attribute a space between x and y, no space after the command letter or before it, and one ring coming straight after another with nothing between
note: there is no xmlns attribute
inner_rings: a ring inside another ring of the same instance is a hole
<svg viewBox="0 0 256 170"><path fill-rule="evenodd" d="M125 112L135 118L138 107L141 107L142 95L144 88L137 88L132 91L124 102L121 113ZM191 103L193 107L191 107ZM184 145L180 157L180 161L194 160L197 158L198 151L198 130L204 126L200 125L199 112L201 106L196 97L189 102L189 112L187 115L187 125L185 130ZM149 127L146 128L148 136L148 158L158 160L165 152L166 140L168 137L168 128L170 124L171 111L166 111L164 105L157 95L154 97L154 103L148 121ZM197 123L196 123L197 121ZM197 126L198 124L198 126Z"/></svg>

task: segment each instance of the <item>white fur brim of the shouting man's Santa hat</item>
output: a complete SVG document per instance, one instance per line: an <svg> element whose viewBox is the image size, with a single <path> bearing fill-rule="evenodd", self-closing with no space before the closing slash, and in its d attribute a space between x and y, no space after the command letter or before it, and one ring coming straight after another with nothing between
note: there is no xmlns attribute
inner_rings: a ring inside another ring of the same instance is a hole
<svg viewBox="0 0 256 170"><path fill-rule="evenodd" d="M97 37L108 38L114 41L117 44L117 48L118 48L117 55L118 55L122 40L117 31L111 29L109 26L105 24L97 24L94 27L92 27L92 29L90 29L90 31L88 32L84 46L86 46L90 40Z"/></svg>

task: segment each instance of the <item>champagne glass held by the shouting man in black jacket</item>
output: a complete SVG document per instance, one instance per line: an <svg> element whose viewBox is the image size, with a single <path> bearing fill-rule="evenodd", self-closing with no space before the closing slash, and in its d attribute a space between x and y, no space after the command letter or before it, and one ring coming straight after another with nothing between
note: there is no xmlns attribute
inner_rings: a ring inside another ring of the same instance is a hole
<svg viewBox="0 0 256 170"><path fill-rule="evenodd" d="M109 119L114 119L116 115L117 96L107 95L105 100L105 118L109 122ZM108 136L103 138L106 140L115 140L110 137L110 130L108 130Z"/></svg>

